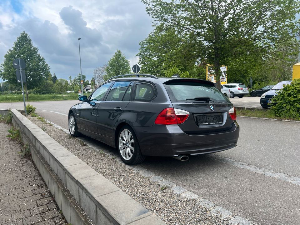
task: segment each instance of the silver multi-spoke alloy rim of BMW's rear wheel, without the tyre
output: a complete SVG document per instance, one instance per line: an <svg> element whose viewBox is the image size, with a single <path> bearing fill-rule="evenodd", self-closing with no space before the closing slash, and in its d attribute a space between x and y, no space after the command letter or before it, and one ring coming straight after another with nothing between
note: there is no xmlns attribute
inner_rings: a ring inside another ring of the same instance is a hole
<svg viewBox="0 0 300 225"><path fill-rule="evenodd" d="M129 160L133 156L134 140L128 129L124 129L119 135L119 150L125 160Z"/></svg>

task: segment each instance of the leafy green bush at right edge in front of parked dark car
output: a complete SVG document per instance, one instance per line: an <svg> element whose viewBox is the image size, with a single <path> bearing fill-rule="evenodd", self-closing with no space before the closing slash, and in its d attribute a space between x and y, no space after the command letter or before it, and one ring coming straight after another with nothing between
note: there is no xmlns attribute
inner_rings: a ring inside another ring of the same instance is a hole
<svg viewBox="0 0 300 225"><path fill-rule="evenodd" d="M300 120L300 79L285 85L272 101L275 104L272 105L271 110L276 116Z"/></svg>

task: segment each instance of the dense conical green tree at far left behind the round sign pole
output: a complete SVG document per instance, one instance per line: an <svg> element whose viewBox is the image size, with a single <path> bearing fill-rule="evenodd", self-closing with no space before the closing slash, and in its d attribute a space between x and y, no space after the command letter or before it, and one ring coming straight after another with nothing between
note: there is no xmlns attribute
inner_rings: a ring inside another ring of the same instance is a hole
<svg viewBox="0 0 300 225"><path fill-rule="evenodd" d="M17 37L17 41L14 42L12 49L8 50L4 55L4 61L1 64L0 77L9 83L17 82L15 68L12 66L12 62L15 58L21 58L26 63L26 90L42 85L43 81L47 79L49 65L38 53L38 48L33 46L29 35L25 31Z"/></svg>

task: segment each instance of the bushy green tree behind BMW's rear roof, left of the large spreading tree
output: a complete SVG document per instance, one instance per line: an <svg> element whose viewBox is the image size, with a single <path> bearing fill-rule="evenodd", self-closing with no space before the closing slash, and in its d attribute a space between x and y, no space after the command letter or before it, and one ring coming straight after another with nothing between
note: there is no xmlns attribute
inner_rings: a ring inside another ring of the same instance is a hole
<svg viewBox="0 0 300 225"><path fill-rule="evenodd" d="M194 44L188 39L180 37L174 28L159 24L139 43L141 47L137 56L142 65L141 73L164 77L169 76L166 71L171 72L172 68L177 68L180 74L188 73L191 77L198 77L199 57Z"/></svg>

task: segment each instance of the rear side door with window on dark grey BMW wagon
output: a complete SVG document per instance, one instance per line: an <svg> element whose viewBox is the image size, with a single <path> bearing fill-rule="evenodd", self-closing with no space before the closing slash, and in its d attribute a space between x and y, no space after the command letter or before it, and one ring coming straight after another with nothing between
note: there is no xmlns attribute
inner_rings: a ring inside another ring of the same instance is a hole
<svg viewBox="0 0 300 225"><path fill-rule="evenodd" d="M129 103L132 87L131 81L116 81L109 90L106 100L98 107L98 133L108 144L113 141L113 128Z"/></svg>

